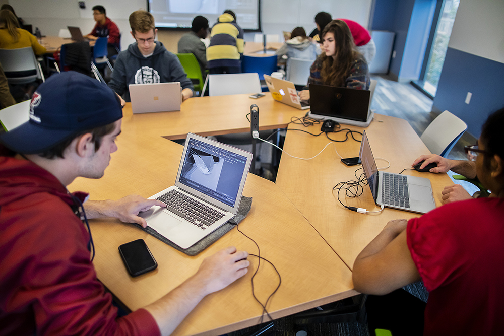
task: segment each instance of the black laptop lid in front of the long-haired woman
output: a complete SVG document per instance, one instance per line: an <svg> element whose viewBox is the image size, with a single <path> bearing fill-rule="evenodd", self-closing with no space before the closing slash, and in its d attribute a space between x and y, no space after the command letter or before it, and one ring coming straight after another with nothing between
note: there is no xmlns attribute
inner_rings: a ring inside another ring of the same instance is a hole
<svg viewBox="0 0 504 336"><path fill-rule="evenodd" d="M310 116L341 122L365 122L369 113L369 90L310 84Z"/></svg>

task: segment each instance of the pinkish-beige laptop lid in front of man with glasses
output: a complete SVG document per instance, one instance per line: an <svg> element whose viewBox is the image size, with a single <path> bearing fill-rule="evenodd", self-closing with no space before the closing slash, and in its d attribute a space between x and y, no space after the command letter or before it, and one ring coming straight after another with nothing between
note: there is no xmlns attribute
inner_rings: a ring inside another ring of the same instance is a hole
<svg viewBox="0 0 504 336"><path fill-rule="evenodd" d="M133 114L180 111L180 82L130 84L129 89Z"/></svg>

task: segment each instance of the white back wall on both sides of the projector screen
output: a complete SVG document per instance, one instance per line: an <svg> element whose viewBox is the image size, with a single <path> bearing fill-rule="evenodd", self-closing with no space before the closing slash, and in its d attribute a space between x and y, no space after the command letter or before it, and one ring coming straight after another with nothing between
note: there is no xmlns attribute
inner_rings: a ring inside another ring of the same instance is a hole
<svg viewBox="0 0 504 336"><path fill-rule="evenodd" d="M292 31L297 26L303 27L309 34L315 28L313 18L318 12L328 12L333 18L354 20L367 27L372 2L372 0L260 1L263 32L279 34L281 41L283 40L282 31ZM44 35L58 35L59 29L67 26L78 26L84 35L88 34L95 25L91 8L94 5L102 5L107 10L107 16L117 24L122 33L121 48L123 50L134 42L129 33L130 13L141 8L147 9L147 0L86 0L85 10L79 9L77 0L9 0L9 3L26 24L31 24L33 30L38 27ZM168 46L176 45L179 36L179 32L174 31L160 33L160 39L161 37L165 41L170 39ZM171 41L172 39L176 41ZM254 34L245 34L245 40L252 41L253 39Z"/></svg>

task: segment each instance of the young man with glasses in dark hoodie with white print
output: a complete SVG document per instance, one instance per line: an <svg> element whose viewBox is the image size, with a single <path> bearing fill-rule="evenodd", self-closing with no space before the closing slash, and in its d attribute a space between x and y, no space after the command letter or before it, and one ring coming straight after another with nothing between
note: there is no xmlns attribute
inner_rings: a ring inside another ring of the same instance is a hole
<svg viewBox="0 0 504 336"><path fill-rule="evenodd" d="M177 56L166 50L156 38L154 17L147 11L130 15L131 34L137 42L117 56L108 86L129 102L129 84L180 82L182 101L194 94L191 80L187 78Z"/></svg>

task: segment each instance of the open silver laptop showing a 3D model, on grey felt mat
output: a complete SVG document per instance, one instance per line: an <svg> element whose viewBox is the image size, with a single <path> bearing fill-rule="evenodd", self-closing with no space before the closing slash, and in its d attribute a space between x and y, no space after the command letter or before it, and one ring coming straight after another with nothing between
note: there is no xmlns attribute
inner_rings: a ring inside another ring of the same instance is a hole
<svg viewBox="0 0 504 336"><path fill-rule="evenodd" d="M154 206L139 214L147 225L183 249L238 213L252 154L188 133L175 185L149 197Z"/></svg>

